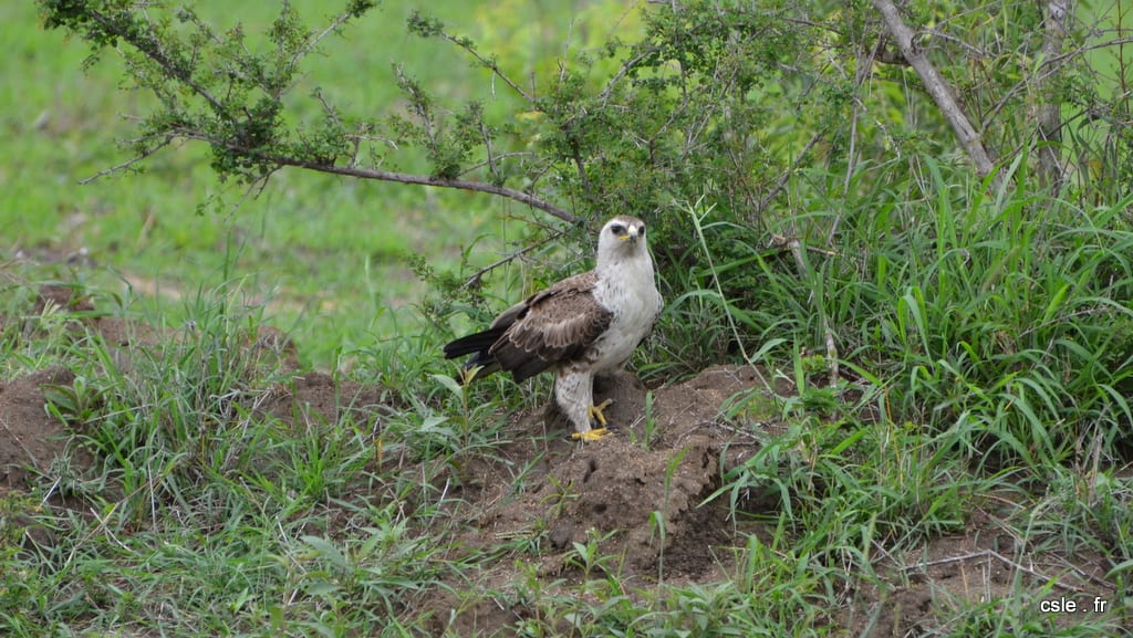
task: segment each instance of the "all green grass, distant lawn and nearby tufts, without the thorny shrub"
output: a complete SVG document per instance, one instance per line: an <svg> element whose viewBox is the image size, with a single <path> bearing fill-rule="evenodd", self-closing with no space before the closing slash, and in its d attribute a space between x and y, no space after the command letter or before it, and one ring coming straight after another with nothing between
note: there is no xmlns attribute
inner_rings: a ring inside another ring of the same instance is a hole
<svg viewBox="0 0 1133 638"><path fill-rule="evenodd" d="M462 59L403 34L408 5L390 2L349 41L332 41L310 84L360 110L384 108L398 59L454 96L485 95ZM554 45L517 25L561 28L569 9L548 7L446 2L443 12L493 25L485 37L535 59ZM828 255L799 260L709 210L668 211L696 215L699 260L666 282L682 294L642 375L672 380L747 356L798 391L736 397L723 415L740 443L760 439L701 504L726 510L735 539L718 578L674 577L674 556L662 553L651 581L630 579L600 531L562 550L545 529L463 541L461 488L475 482L459 473L491 459L517 493L528 490L542 459L508 465L503 426L540 398L501 378L469 389L449 378L444 335L415 311L424 292L400 255L455 267L460 246L513 233L497 221L513 211L292 171L233 210L242 193L218 184L193 145L142 175L76 186L123 160L113 141L130 126L118 114L142 110L143 97L113 88L112 65L79 73L82 46L33 28L28 6L0 18L12 51L0 73L22 78L0 88L0 378L74 372L74 383L44 389L49 410L76 433L73 449L96 459L86 471L59 459L0 493L6 635L426 636L449 627L425 613L440 596L454 611L519 610L505 629L520 636L818 637L840 635L850 609L880 632L934 543L965 535L1011 539L1017 553L1003 553L1022 565L1037 552L1105 558L1115 611L1063 627L1038 605L1062 592L1016 572L988 601L942 594L930 611L939 635L1128 631L1128 199L1082 210L988 194L965 169L928 158L908 175L869 167L884 187L868 196L800 199L791 223L821 237L838 220L841 231ZM791 188L803 190L802 179ZM491 261L496 241L475 257ZM9 263L17 248L48 263ZM96 264L68 265L79 248ZM755 275L753 303L725 298ZM95 311L36 311L49 281L91 296ZM140 344L123 354L84 327L92 315L136 322ZM249 346L264 325L296 340L304 368L370 383L382 407L333 418L265 410L298 373L286 352ZM834 386L828 335L840 349ZM645 451L664 439L653 420L663 409L648 403L634 441ZM785 432L747 429L761 420ZM682 454L654 477L666 494ZM548 510L577 496L556 487ZM57 507L60 497L78 507ZM668 534L661 505L655 539ZM543 569L551 554L562 573ZM487 588L494 571L514 579Z"/></svg>

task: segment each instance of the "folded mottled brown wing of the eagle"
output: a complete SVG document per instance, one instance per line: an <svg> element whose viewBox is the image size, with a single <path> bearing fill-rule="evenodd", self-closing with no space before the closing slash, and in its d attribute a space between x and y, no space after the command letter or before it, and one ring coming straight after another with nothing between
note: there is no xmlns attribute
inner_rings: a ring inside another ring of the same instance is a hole
<svg viewBox="0 0 1133 638"><path fill-rule="evenodd" d="M500 368L523 381L581 356L613 317L594 299L597 280L594 272L564 279L533 295L518 313L504 313L514 318L488 350Z"/></svg>

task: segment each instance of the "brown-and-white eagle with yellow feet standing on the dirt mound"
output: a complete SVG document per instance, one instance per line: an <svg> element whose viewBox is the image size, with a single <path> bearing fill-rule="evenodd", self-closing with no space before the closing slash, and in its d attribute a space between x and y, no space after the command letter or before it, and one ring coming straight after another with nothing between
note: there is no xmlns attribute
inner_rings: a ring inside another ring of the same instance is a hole
<svg viewBox="0 0 1133 638"><path fill-rule="evenodd" d="M572 437L596 441L606 435L602 411L611 400L594 405L594 377L625 366L662 306L645 222L620 215L602 227L594 270L531 295L487 330L448 343L444 358L471 355L465 364L468 381L503 371L520 382L553 371L555 403L574 427Z"/></svg>

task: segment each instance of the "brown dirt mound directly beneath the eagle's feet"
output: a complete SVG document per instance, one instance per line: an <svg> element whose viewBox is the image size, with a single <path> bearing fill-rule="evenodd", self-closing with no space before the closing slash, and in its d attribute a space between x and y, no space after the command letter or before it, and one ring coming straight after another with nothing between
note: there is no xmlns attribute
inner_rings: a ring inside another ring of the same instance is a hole
<svg viewBox="0 0 1133 638"><path fill-rule="evenodd" d="M539 458L525 459L512 445L505 467L475 468L482 501L499 503L479 518L482 534L496 538L545 535L554 558L544 569L561 572L574 543L603 538L606 554L624 556L623 573L665 572L699 577L714 565L714 548L729 542L724 508L698 505L718 487L727 433L714 427L724 401L755 386L751 368L718 367L654 393L645 415L646 389L620 373L596 384L596 401L613 399L607 410L615 434L590 444L552 439ZM651 419L649 423L647 419ZM516 432L566 429L553 411L529 415ZM527 446L529 449L529 446ZM525 490L516 491L509 470L531 465ZM487 470L487 471L485 471ZM480 478L483 480L483 478Z"/></svg>

